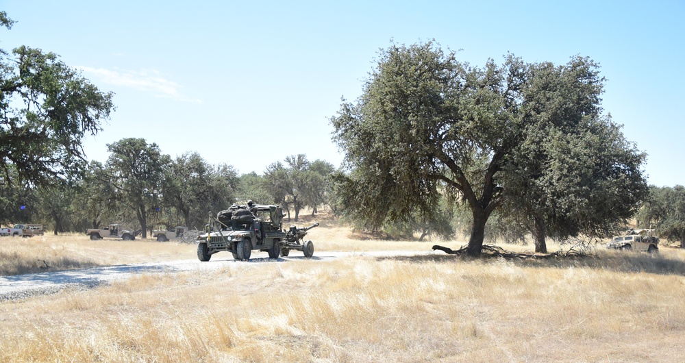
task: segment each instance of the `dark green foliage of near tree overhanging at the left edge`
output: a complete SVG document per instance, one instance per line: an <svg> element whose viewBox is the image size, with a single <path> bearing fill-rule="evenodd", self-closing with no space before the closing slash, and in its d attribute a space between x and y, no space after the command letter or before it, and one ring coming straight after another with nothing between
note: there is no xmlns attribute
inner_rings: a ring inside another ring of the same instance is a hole
<svg viewBox="0 0 685 363"><path fill-rule="evenodd" d="M12 25L4 12L0 24ZM22 46L11 55L0 51L0 110L5 181L51 184L82 175L84 134L101 131L114 105L111 92L98 90L54 53Z"/></svg>

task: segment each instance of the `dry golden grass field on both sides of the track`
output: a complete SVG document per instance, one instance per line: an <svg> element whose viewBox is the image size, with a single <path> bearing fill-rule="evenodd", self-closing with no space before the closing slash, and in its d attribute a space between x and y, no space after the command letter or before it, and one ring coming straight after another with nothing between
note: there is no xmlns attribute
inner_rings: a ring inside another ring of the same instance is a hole
<svg viewBox="0 0 685 363"><path fill-rule="evenodd" d="M353 240L335 225L308 237L317 251L433 245ZM169 242L0 243L3 261L66 258L65 268L195 258L195 245ZM570 260L356 255L227 264L1 302L0 361L682 362L684 295L685 252L663 247Z"/></svg>

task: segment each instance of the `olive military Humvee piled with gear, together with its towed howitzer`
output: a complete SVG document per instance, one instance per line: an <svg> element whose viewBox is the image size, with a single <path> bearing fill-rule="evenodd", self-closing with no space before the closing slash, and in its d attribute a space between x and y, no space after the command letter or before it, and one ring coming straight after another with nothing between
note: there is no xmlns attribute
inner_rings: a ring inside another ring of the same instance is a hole
<svg viewBox="0 0 685 363"><path fill-rule="evenodd" d="M232 253L235 260L249 260L253 250L269 253L269 258L288 255L291 249L303 251L306 257L314 255L314 245L282 230L283 209L278 205L232 205L228 210L210 214L205 233L197 237L197 258L206 262L221 251ZM318 225L318 224L316 224ZM316 226L312 226L313 228ZM297 231L297 227L291 230ZM304 232L306 234L306 231ZM292 241L292 242L291 242Z"/></svg>

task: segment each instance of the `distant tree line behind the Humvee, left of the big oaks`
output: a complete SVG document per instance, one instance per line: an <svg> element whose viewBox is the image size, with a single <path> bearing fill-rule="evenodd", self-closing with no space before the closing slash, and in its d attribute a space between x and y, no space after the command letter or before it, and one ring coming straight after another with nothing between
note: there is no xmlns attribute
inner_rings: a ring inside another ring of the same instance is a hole
<svg viewBox="0 0 685 363"><path fill-rule="evenodd" d="M108 150L105 164L90 162L84 177L73 183L0 185L5 203L0 222L42 221L55 234L120 223L141 229L147 238L160 225L201 229L208 212L249 199L282 205L297 221L302 208L316 212L327 203L327 177L334 171L328 162L292 155L264 175L238 175L233 166L212 165L197 152L171 158L142 138L119 140Z"/></svg>

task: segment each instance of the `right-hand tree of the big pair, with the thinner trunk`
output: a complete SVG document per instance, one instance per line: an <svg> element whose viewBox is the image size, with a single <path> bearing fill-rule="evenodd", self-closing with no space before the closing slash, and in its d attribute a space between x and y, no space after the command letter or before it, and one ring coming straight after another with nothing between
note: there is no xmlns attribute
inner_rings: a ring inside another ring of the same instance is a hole
<svg viewBox="0 0 685 363"><path fill-rule="evenodd" d="M510 62L520 60L510 58ZM635 212L647 193L645 153L601 115L603 78L588 58L528 64L521 91L525 139L503 164L501 216L527 229L536 251L545 236L601 238Z"/></svg>

